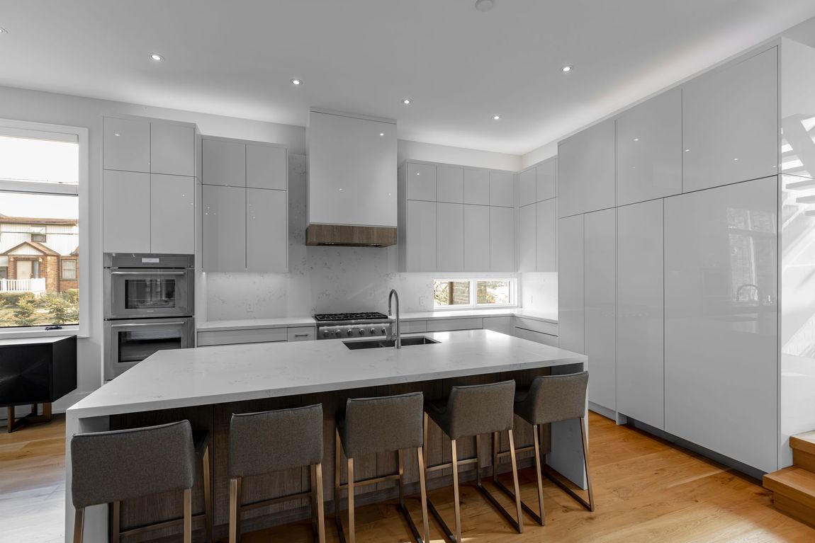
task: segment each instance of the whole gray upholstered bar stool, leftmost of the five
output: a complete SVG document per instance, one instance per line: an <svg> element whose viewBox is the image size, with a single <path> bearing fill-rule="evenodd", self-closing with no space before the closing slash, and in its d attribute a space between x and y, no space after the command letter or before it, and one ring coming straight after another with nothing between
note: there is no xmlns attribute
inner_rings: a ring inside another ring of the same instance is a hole
<svg viewBox="0 0 815 543"><path fill-rule="evenodd" d="M114 504L111 541L118 541L120 501L180 490L184 492L183 519L145 528L163 528L181 521L184 543L191 543L196 451L189 421L77 434L71 439L71 473L73 506L77 510L74 543L82 541L86 507ZM209 518L207 520L209 523ZM143 529L123 533L136 531L143 532Z"/></svg>

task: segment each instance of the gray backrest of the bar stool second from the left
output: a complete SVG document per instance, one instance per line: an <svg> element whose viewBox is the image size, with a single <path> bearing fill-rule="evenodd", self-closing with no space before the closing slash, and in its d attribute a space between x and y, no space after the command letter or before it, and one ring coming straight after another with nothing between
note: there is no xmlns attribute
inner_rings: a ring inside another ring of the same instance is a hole
<svg viewBox="0 0 815 543"><path fill-rule="evenodd" d="M323 461L323 405L233 414L229 476L262 475Z"/></svg>

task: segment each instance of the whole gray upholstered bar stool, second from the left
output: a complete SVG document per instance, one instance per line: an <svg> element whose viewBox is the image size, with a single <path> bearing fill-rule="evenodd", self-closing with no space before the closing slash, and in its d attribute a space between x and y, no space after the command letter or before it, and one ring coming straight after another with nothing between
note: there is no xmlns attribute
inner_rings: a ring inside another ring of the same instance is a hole
<svg viewBox="0 0 815 543"><path fill-rule="evenodd" d="M311 467L311 489L241 503L243 478ZM280 501L311 498L315 539L325 541L323 514L323 406L233 414L229 427L229 541L240 541L240 514Z"/></svg>

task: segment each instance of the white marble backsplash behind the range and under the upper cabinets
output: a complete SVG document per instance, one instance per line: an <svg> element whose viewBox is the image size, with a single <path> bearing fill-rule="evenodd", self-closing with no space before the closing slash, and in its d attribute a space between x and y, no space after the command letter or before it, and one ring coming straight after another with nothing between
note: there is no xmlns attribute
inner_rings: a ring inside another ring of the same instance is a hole
<svg viewBox="0 0 815 543"><path fill-rule="evenodd" d="M306 247L306 156L289 155L289 273L209 273L205 278L207 320L302 317L312 313L382 311L391 288L401 309L433 309L435 274L399 273L397 247ZM551 303L557 279L523 274L534 303ZM556 275L556 274L555 274ZM456 277L508 274L457 274ZM518 277L518 274L509 274ZM540 292L540 294L539 294ZM557 300L554 302L557 307ZM252 311L247 309L251 307Z"/></svg>

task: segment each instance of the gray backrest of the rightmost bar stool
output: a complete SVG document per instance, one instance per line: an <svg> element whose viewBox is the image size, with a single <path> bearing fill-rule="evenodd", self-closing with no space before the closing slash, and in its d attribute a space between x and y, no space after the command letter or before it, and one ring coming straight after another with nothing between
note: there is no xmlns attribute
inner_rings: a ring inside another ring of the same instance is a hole
<svg viewBox="0 0 815 543"><path fill-rule="evenodd" d="M532 424L557 423L586 414L588 371L535 377L526 398L526 413Z"/></svg>

